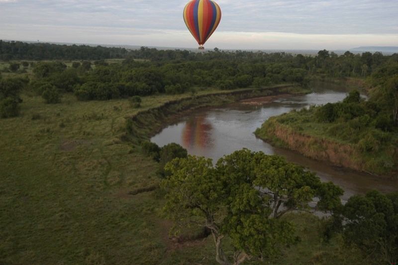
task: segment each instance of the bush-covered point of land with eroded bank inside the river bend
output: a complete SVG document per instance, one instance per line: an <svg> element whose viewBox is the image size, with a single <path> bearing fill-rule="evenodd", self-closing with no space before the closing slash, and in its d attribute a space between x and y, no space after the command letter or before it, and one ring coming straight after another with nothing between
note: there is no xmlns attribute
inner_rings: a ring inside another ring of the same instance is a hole
<svg viewBox="0 0 398 265"><path fill-rule="evenodd" d="M398 65L369 79L368 100L352 91L341 103L273 117L256 135L314 159L395 176L398 172Z"/></svg>

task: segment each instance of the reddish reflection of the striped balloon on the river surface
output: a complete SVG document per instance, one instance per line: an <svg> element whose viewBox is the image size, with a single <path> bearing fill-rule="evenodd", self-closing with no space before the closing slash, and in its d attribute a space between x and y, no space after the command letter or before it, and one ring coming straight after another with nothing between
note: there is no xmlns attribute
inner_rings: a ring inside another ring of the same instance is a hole
<svg viewBox="0 0 398 265"><path fill-rule="evenodd" d="M212 126L205 119L205 116L190 117L183 129L182 145L188 150L194 147L200 149L211 148L211 130Z"/></svg>

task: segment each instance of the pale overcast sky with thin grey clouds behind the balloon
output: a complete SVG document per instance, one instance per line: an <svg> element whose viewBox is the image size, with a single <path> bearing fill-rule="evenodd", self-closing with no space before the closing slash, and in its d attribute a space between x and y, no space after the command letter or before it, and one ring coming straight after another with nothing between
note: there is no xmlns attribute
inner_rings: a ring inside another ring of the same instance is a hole
<svg viewBox="0 0 398 265"><path fill-rule="evenodd" d="M188 0L0 0L0 39L197 47ZM398 46L398 0L216 0L206 48Z"/></svg>

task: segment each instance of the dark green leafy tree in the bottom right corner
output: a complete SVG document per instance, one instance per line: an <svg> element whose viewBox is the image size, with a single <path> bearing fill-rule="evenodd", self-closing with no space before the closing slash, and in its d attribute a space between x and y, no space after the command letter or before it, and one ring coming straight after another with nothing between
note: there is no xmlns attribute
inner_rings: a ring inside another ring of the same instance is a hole
<svg viewBox="0 0 398 265"><path fill-rule="evenodd" d="M398 262L398 193L368 192L349 198L342 211L343 236L364 254ZM381 264L381 263L380 263Z"/></svg>

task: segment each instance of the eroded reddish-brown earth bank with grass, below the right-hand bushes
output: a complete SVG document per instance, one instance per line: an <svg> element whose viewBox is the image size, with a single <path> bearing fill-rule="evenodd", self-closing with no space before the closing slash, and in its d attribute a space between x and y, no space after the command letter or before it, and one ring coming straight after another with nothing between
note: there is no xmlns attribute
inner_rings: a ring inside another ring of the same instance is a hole
<svg viewBox="0 0 398 265"><path fill-rule="evenodd" d="M267 120L255 135L273 145L288 148L319 161L377 175L397 177L398 148L382 148L364 152L361 143L350 143L331 137L328 124L310 123L307 118L298 121L297 112Z"/></svg>

